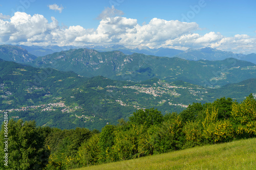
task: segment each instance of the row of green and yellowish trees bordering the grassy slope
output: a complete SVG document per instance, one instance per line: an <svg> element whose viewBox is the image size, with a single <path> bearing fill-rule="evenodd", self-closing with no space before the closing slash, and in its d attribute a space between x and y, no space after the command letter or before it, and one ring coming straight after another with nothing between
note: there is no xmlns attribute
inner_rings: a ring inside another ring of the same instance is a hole
<svg viewBox="0 0 256 170"><path fill-rule="evenodd" d="M2 126L2 158L4 133ZM252 94L241 103L230 98L193 103L179 114L162 115L154 108L138 110L128 122L120 119L118 125L106 125L101 132L36 127L32 121L10 120L6 169L68 169L250 137L256 137Z"/></svg>

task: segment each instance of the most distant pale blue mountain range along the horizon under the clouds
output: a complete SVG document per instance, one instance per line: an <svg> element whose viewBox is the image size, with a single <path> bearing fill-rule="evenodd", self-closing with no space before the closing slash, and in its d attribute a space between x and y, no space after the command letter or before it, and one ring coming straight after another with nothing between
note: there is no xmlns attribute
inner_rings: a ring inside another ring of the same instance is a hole
<svg viewBox="0 0 256 170"><path fill-rule="evenodd" d="M201 49L190 48L186 51L176 50L172 48L149 48L146 46L138 45L135 48L127 48L123 45L87 45L87 46L57 46L57 45L48 45L48 46L25 46L19 45L20 47L26 49L30 54L35 56L45 56L55 52L68 51L70 49L78 48L88 48L93 49L98 52L111 52L111 51L120 51L126 55L132 55L134 53L140 53L145 55L154 55L158 57L179 57L186 60L224 60L227 58L235 58L239 60L249 61L256 64L256 54L235 54L232 52L220 51L211 47L205 47Z"/></svg>

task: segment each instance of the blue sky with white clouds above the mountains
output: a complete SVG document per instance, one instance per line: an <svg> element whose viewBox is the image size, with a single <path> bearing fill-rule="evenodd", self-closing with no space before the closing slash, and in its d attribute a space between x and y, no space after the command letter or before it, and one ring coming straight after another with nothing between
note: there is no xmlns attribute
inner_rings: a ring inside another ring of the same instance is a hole
<svg viewBox="0 0 256 170"><path fill-rule="evenodd" d="M256 53L256 1L10 0L0 44L212 47Z"/></svg>

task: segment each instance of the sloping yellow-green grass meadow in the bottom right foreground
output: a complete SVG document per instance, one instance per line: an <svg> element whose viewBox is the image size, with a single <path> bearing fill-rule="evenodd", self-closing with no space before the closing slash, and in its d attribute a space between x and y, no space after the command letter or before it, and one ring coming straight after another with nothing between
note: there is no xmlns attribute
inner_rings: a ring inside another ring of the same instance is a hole
<svg viewBox="0 0 256 170"><path fill-rule="evenodd" d="M89 169L256 169L256 138L73 170Z"/></svg>

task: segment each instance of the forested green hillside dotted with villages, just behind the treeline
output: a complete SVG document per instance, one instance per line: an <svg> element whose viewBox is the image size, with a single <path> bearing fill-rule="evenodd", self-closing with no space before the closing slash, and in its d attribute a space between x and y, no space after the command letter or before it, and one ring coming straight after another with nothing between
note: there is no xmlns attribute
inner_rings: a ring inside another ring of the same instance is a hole
<svg viewBox="0 0 256 170"><path fill-rule="evenodd" d="M138 109L181 112L194 102L204 104L223 96L239 102L250 93L256 94L255 80L221 88L157 78L126 82L1 60L0 108L15 119L36 120L38 126L100 130L117 124L120 118L127 120Z"/></svg>

